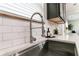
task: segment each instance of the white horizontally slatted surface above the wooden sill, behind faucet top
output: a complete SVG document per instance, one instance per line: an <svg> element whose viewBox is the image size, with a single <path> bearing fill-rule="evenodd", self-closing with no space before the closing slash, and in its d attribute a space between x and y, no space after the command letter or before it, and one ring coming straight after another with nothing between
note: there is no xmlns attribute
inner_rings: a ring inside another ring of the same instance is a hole
<svg viewBox="0 0 79 59"><path fill-rule="evenodd" d="M42 6L42 3L0 3L0 10L31 18L31 15L35 12L39 12L43 15ZM40 20L38 15L34 18Z"/></svg>

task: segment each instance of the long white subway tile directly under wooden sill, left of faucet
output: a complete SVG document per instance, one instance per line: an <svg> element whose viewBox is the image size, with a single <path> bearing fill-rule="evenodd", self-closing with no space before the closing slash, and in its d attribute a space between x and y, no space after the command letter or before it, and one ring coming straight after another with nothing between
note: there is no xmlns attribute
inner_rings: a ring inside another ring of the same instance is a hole
<svg viewBox="0 0 79 59"><path fill-rule="evenodd" d="M19 20L11 17L4 17L3 24L8 26L29 26L28 21Z"/></svg>

